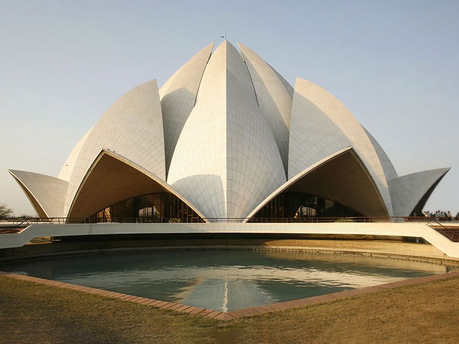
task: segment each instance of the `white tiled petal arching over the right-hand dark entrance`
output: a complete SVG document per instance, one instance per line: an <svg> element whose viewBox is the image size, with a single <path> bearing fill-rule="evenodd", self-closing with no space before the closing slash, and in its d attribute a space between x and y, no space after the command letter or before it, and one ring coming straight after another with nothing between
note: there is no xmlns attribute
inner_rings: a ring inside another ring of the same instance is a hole
<svg viewBox="0 0 459 344"><path fill-rule="evenodd" d="M289 177L339 149L352 146L392 216L389 188L378 154L362 125L335 96L298 77L289 133Z"/></svg>

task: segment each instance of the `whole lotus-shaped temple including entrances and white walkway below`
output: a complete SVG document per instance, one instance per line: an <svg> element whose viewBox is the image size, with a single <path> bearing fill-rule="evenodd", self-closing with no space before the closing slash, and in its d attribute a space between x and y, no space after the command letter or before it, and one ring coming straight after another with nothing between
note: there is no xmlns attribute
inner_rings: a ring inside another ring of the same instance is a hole
<svg viewBox="0 0 459 344"><path fill-rule="evenodd" d="M399 176L337 98L238 47L209 44L160 88L122 95L57 177L9 170L42 223L3 247L38 235L392 235L459 257L448 231L407 221L449 168Z"/></svg>

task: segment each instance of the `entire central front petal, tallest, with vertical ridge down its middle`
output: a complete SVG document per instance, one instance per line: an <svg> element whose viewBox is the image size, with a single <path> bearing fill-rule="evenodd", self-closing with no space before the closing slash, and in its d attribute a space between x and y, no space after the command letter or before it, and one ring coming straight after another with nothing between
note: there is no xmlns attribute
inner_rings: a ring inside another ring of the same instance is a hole
<svg viewBox="0 0 459 344"><path fill-rule="evenodd" d="M247 68L224 41L202 77L168 182L208 218L243 218L285 180Z"/></svg>

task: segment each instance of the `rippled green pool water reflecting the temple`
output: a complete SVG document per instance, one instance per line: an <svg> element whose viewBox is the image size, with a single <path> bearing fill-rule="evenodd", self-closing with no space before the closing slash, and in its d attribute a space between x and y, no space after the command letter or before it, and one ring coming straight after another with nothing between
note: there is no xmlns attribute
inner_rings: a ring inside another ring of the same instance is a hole
<svg viewBox="0 0 459 344"><path fill-rule="evenodd" d="M408 260L266 251L130 252L0 270L221 311L446 272L439 264Z"/></svg>

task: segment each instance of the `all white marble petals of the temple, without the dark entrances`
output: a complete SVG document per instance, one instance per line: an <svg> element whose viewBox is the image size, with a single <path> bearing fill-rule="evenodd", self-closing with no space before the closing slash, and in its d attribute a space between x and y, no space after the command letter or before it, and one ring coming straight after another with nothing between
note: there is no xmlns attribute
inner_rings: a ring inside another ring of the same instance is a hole
<svg viewBox="0 0 459 344"><path fill-rule="evenodd" d="M220 219L252 216L286 186L294 190L305 171L349 149L389 216L409 216L448 171L399 177L338 99L302 78L293 88L238 45L241 52L223 41L212 52L211 43L161 89L151 80L127 92L75 146L58 178L10 170L37 214L66 217L104 150L141 167L200 216Z"/></svg>

